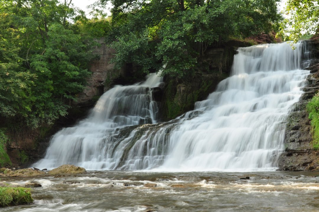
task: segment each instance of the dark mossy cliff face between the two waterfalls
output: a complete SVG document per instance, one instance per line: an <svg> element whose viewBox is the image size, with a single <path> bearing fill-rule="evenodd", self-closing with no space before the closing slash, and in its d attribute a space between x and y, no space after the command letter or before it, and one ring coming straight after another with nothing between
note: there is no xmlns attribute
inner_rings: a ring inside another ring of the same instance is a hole
<svg viewBox="0 0 319 212"><path fill-rule="evenodd" d="M170 120L193 110L195 102L205 100L217 84L229 76L236 50L251 45L249 42L231 40L222 46L211 47L200 58L199 70L182 80L166 79L161 118Z"/></svg>

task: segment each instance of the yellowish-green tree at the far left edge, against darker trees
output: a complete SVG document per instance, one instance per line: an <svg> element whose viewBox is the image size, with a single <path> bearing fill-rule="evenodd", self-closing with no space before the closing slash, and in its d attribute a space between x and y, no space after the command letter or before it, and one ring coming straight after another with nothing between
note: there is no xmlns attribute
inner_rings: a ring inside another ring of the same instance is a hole
<svg viewBox="0 0 319 212"><path fill-rule="evenodd" d="M30 95L35 76L23 69L19 57L19 31L8 27L12 19L0 14L0 113L3 117L14 117L17 113L26 116L31 110Z"/></svg>

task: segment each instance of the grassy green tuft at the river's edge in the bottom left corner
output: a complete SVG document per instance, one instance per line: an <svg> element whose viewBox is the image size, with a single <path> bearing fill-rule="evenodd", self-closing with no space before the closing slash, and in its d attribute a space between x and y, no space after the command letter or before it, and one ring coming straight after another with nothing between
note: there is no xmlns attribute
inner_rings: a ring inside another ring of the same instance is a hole
<svg viewBox="0 0 319 212"><path fill-rule="evenodd" d="M30 188L0 187L0 206L32 203Z"/></svg>

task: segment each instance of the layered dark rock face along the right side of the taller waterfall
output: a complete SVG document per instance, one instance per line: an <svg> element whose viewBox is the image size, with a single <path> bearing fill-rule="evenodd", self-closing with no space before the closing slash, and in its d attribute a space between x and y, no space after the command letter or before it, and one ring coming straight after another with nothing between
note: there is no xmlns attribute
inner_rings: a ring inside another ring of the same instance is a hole
<svg viewBox="0 0 319 212"><path fill-rule="evenodd" d="M319 41L309 41L313 60L307 68L310 70L308 85L300 101L293 106L289 114L285 133L285 152L279 158L279 169L290 171L318 170L319 151L312 148L312 132L306 105L319 91Z"/></svg>

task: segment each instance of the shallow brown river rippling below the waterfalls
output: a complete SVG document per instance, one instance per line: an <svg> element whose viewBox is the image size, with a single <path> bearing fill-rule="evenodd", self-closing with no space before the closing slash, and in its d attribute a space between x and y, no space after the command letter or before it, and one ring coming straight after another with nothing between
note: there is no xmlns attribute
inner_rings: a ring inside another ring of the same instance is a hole
<svg viewBox="0 0 319 212"><path fill-rule="evenodd" d="M246 176L250 179L240 179ZM2 178L20 186L33 179L42 187L32 189L33 204L1 211L314 212L319 211L318 176L319 172L89 171L74 176ZM145 187L146 183L156 187Z"/></svg>

